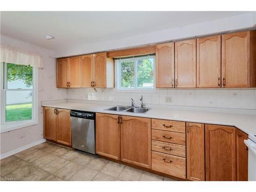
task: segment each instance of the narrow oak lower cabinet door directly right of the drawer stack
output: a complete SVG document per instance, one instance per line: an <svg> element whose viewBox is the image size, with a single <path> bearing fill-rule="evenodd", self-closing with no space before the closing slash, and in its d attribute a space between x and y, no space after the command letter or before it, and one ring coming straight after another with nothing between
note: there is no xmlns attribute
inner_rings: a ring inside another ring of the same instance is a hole
<svg viewBox="0 0 256 192"><path fill-rule="evenodd" d="M187 123L187 179L205 181L204 124Z"/></svg>

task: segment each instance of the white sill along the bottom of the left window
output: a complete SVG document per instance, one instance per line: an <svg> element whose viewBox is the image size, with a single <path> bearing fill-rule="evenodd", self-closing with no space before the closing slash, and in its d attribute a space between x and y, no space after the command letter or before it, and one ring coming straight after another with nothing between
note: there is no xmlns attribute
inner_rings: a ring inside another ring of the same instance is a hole
<svg viewBox="0 0 256 192"><path fill-rule="evenodd" d="M23 121L23 122L7 122L0 125L0 133L5 133L17 129L21 129L27 126L38 124L38 121Z"/></svg>

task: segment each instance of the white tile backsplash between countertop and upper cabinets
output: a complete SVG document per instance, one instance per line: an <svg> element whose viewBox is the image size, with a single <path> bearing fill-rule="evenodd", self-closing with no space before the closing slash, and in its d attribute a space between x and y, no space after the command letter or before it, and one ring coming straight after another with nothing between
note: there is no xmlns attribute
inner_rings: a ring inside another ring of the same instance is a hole
<svg viewBox="0 0 256 192"><path fill-rule="evenodd" d="M68 99L145 104L256 109L256 89L157 89L156 93L122 93L115 89L68 89Z"/></svg>

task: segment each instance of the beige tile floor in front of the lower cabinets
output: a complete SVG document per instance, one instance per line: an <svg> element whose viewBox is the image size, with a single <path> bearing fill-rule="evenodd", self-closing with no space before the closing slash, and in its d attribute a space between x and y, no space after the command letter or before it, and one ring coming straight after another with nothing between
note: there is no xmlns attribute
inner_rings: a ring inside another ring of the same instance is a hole
<svg viewBox="0 0 256 192"><path fill-rule="evenodd" d="M2 181L173 181L50 142L0 162Z"/></svg>

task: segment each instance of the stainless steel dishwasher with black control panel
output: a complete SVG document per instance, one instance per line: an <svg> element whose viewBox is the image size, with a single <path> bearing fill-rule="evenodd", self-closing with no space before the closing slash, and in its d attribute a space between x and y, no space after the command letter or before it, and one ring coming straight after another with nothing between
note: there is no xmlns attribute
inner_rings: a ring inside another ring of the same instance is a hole
<svg viewBox="0 0 256 192"><path fill-rule="evenodd" d="M95 113L71 111L72 147L95 155Z"/></svg>

